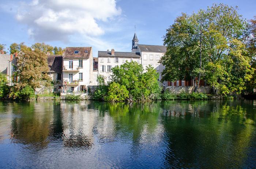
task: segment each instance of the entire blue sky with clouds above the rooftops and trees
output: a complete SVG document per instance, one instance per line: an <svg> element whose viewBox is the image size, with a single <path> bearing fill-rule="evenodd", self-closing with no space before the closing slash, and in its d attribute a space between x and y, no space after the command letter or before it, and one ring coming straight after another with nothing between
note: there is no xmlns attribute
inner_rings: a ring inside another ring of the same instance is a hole
<svg viewBox="0 0 256 169"><path fill-rule="evenodd" d="M131 51L136 25L140 44L162 45L181 12L213 3L238 6L243 18L256 15L255 0L0 0L0 43L45 42L52 46L93 46Z"/></svg>

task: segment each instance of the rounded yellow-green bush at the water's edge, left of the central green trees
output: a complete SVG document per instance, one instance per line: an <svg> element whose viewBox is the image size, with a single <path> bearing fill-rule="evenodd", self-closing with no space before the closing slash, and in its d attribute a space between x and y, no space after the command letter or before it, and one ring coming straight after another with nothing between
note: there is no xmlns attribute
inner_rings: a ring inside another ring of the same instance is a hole
<svg viewBox="0 0 256 169"><path fill-rule="evenodd" d="M106 101L124 101L129 96L128 90L124 85L120 85L116 82L112 82L109 85L108 95L104 97Z"/></svg>

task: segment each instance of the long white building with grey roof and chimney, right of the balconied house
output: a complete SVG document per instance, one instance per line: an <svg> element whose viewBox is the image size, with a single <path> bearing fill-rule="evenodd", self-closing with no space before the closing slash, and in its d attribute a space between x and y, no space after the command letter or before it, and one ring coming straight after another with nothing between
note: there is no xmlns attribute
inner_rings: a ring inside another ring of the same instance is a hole
<svg viewBox="0 0 256 169"><path fill-rule="evenodd" d="M105 77L105 80L110 81L111 68L120 66L126 61L135 61L141 64L140 53L138 52L120 52L114 51L98 51L98 74Z"/></svg>

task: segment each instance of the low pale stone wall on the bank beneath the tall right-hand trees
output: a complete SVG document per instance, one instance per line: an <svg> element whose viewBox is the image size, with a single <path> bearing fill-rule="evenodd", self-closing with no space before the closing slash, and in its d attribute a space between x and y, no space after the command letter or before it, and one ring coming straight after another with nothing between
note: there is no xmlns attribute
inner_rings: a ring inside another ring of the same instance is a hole
<svg viewBox="0 0 256 169"><path fill-rule="evenodd" d="M168 86L165 87L165 90L169 90L171 93L181 93L182 91L185 91L186 93L192 93L194 91L193 86ZM211 87L210 86L199 86L198 90L199 93L211 93Z"/></svg>

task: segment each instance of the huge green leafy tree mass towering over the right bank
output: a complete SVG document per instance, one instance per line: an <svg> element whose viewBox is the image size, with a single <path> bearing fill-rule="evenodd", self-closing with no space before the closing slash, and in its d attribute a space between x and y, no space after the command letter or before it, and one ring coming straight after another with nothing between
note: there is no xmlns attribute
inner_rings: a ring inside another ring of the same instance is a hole
<svg viewBox="0 0 256 169"><path fill-rule="evenodd" d="M192 15L182 14L165 35L163 80L200 81L203 76L214 93L217 89L223 94L240 93L253 73L241 41L245 25L237 7L224 4L214 4Z"/></svg>

